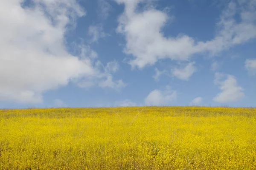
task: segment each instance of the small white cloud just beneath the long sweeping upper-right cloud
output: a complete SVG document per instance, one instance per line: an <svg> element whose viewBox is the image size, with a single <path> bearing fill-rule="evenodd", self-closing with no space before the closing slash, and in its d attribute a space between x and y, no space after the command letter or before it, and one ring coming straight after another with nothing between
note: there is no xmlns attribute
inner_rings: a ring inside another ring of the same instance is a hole
<svg viewBox="0 0 256 170"><path fill-rule="evenodd" d="M189 77L196 71L196 67L194 66L195 62L190 62L184 68L174 68L172 69L172 75L181 80L189 80Z"/></svg>

